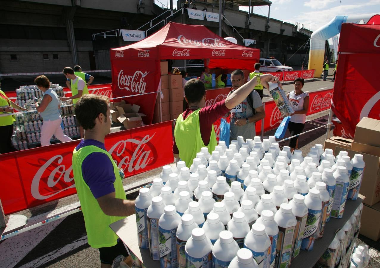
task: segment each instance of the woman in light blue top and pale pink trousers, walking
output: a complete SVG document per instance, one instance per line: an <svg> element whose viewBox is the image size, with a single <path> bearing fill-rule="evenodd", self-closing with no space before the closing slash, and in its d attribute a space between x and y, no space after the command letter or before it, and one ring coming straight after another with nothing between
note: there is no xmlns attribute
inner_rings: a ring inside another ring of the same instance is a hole
<svg viewBox="0 0 380 268"><path fill-rule="evenodd" d="M50 89L50 81L46 76L40 75L34 79L37 87L44 92L41 103L36 102L36 110L41 114L43 119L42 128L41 128L41 146L50 145L50 140L54 134L55 138L58 140L72 141L69 136L66 136L63 133L61 127L62 117L59 113L59 97L54 90ZM38 99L35 99L38 101Z"/></svg>

